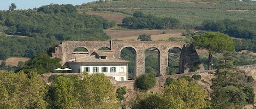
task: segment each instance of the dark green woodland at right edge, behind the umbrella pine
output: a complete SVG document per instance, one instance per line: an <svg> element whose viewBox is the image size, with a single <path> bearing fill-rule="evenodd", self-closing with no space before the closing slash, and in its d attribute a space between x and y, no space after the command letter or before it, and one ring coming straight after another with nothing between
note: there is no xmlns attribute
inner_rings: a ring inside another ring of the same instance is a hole
<svg viewBox="0 0 256 109"><path fill-rule="evenodd" d="M256 22L247 20L204 21L199 30L219 31L236 42L236 51L249 50L256 52Z"/></svg>

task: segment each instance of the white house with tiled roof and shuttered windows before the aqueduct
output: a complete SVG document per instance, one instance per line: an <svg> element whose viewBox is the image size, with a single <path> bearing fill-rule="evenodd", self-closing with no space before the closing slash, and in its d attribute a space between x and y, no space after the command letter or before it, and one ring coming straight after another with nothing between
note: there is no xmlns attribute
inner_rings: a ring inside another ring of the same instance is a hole
<svg viewBox="0 0 256 109"><path fill-rule="evenodd" d="M108 53L110 52L94 52L92 55L67 61L66 65L73 72L104 73L116 81L127 81L128 62L105 55Z"/></svg>

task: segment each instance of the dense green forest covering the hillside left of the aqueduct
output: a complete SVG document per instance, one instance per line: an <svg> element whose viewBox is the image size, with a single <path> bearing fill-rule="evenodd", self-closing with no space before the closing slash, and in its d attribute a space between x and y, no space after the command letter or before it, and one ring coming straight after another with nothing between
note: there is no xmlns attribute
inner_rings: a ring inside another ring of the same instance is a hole
<svg viewBox="0 0 256 109"><path fill-rule="evenodd" d="M31 58L63 40L109 40L103 30L114 25L99 16L79 14L73 5L0 11L0 60Z"/></svg>

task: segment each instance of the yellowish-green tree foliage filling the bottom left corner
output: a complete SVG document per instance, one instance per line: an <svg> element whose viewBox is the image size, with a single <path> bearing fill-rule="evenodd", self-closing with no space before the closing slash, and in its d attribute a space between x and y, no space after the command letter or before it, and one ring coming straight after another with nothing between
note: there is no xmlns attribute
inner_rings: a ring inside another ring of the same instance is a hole
<svg viewBox="0 0 256 109"><path fill-rule="evenodd" d="M46 84L35 72L0 71L1 108L46 108Z"/></svg>

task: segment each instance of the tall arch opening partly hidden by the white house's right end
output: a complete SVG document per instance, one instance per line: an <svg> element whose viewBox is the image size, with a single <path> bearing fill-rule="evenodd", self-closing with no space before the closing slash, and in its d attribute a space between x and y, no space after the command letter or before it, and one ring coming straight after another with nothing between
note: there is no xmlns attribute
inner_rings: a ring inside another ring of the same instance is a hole
<svg viewBox="0 0 256 109"><path fill-rule="evenodd" d="M136 77L136 51L132 47L124 47L121 50L121 60L128 61L128 80Z"/></svg>

